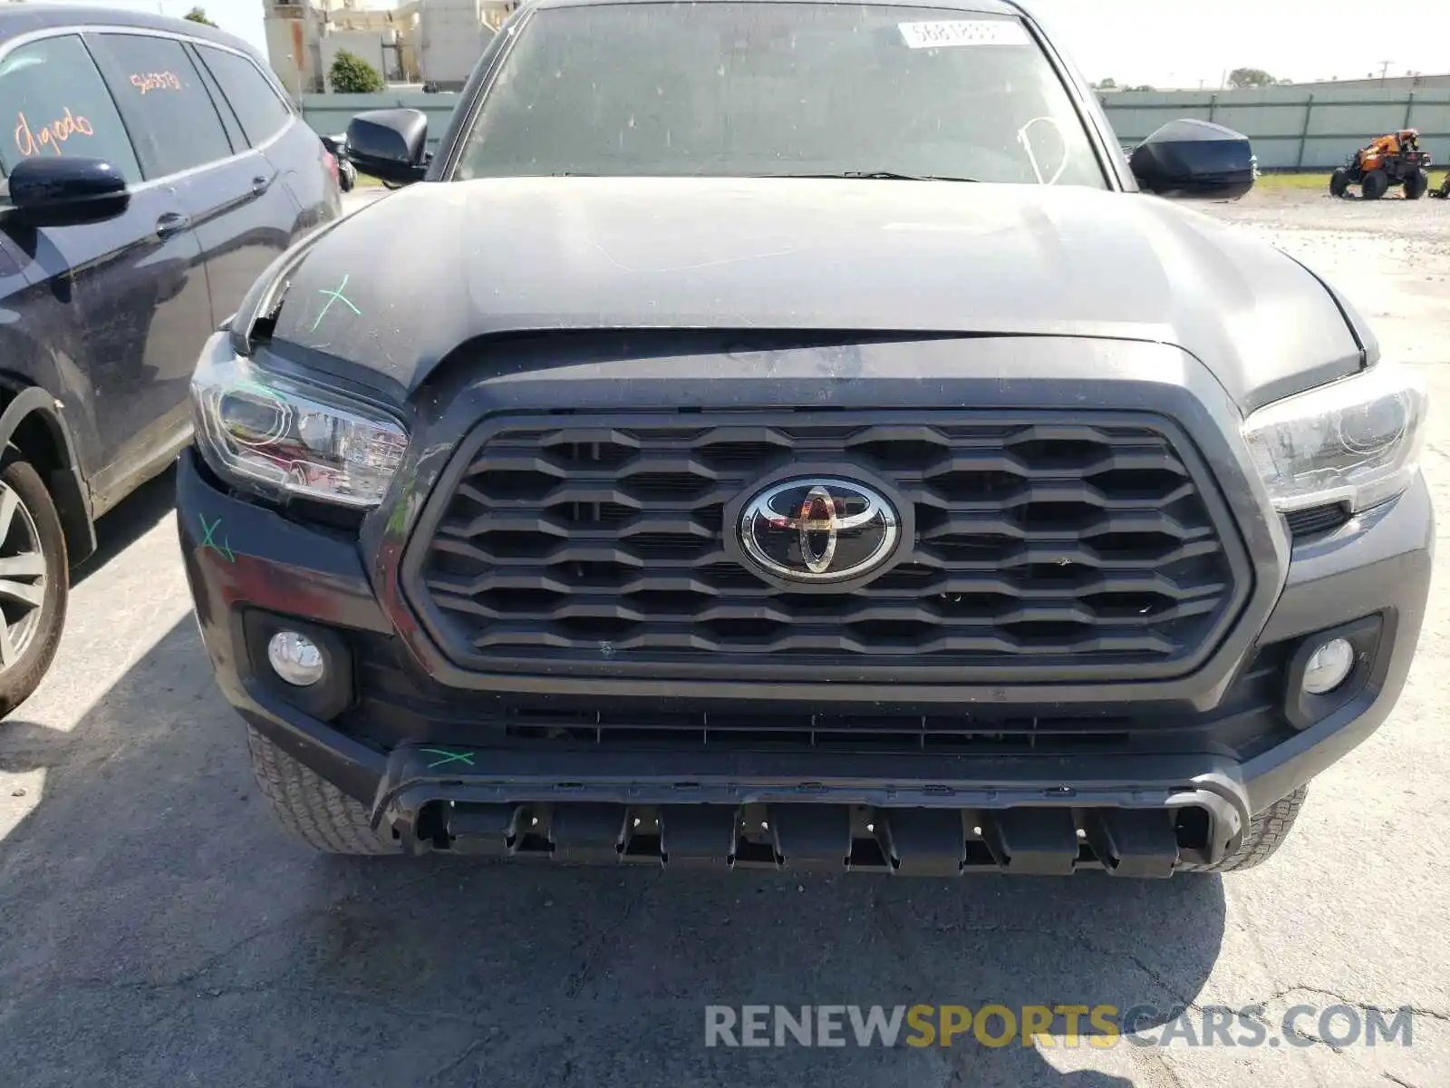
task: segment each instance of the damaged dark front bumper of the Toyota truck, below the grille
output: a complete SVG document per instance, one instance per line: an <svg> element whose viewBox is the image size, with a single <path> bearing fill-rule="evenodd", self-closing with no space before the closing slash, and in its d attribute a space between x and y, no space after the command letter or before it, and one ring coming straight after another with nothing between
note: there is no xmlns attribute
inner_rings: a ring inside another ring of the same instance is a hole
<svg viewBox="0 0 1450 1088"><path fill-rule="evenodd" d="M302 525L229 493L190 450L177 511L223 693L254 728L367 805L384 838L412 850L561 860L950 875L1106 867L1148 876L1222 859L1253 814L1343 757L1392 709L1421 627L1434 538L1428 490L1417 480L1393 503L1295 548L1277 602L1237 664L1240 680L1253 673L1279 692L1253 715L1206 705L1201 692L1144 701L1132 685L1096 685L1090 714L1163 728L1099 751L1045 740L980 753L609 749L483 728L499 705L442 683L409 653L355 534ZM323 646L331 685L315 692L276 679L265 641L281 627ZM1293 662L1337 628L1364 640L1356 679L1333 705L1296 714L1286 695ZM747 712L767 705L761 695L751 688ZM1047 715L1070 709L1074 692L1054 691L1051 702L1041 691L985 695L1014 714ZM854 709L893 698L879 691ZM650 691L621 705L683 715L699 712L697 702Z"/></svg>

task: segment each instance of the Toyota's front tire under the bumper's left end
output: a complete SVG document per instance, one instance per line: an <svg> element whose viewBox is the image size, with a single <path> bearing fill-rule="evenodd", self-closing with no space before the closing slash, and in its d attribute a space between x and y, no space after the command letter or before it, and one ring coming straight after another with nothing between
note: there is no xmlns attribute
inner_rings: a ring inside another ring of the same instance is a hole
<svg viewBox="0 0 1450 1088"><path fill-rule="evenodd" d="M262 734L246 727L246 747L262 796L283 828L332 854L394 854L402 847L373 833L368 811Z"/></svg>

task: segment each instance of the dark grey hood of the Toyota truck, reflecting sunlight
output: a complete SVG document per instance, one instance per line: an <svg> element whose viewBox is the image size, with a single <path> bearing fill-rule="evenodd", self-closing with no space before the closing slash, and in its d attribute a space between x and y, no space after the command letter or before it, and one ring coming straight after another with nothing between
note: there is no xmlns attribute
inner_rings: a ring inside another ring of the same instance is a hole
<svg viewBox="0 0 1450 1088"><path fill-rule="evenodd" d="M639 328L1172 344L1243 411L1376 351L1293 260L1157 197L782 178L412 186L310 242L273 335L407 395L480 337Z"/></svg>

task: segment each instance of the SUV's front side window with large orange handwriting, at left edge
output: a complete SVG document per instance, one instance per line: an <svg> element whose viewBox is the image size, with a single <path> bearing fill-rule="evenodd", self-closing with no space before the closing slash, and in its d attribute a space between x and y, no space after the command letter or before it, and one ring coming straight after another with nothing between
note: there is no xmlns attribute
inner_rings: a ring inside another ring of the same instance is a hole
<svg viewBox="0 0 1450 1088"><path fill-rule="evenodd" d="M22 158L103 158L128 181L141 180L136 152L90 52L75 35L45 38L0 59L0 165ZM13 126L13 128L12 128Z"/></svg>

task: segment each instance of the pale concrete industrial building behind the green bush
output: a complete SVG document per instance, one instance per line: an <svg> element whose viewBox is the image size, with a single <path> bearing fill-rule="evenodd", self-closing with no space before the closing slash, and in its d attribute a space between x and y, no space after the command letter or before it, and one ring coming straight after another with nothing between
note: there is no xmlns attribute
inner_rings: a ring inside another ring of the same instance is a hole
<svg viewBox="0 0 1450 1088"><path fill-rule="evenodd" d="M384 6L386 4L386 6ZM293 94L318 94L338 51L390 84L458 90L513 0L262 0L267 55Z"/></svg>

